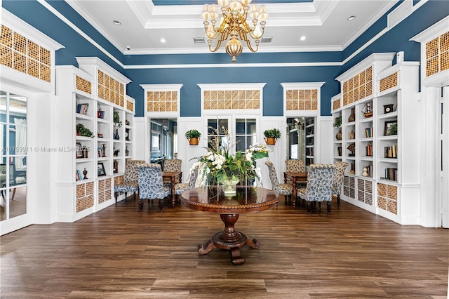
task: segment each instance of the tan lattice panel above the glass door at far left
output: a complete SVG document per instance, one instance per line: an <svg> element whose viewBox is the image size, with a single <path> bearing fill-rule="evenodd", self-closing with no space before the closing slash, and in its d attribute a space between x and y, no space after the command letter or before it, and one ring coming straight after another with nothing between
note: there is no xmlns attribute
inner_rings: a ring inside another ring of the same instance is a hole
<svg viewBox="0 0 449 299"><path fill-rule="evenodd" d="M46 82L51 81L51 51L1 25L0 64Z"/></svg>

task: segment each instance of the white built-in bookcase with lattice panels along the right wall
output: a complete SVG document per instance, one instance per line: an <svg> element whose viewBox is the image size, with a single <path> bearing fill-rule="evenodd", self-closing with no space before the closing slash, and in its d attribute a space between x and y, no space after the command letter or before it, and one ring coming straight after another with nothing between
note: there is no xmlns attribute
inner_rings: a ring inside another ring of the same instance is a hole
<svg viewBox="0 0 449 299"><path fill-rule="evenodd" d="M333 119L342 117L342 126L334 129L334 160L349 164L343 200L405 224L419 213L419 63L392 65L394 55L374 53L337 78Z"/></svg>

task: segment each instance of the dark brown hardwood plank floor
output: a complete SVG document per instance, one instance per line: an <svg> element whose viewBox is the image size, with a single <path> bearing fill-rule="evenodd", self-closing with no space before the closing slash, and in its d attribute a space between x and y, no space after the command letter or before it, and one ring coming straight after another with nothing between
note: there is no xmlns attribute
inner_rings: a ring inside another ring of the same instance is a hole
<svg viewBox="0 0 449 299"><path fill-rule="evenodd" d="M166 201L168 204L168 201ZM342 201L240 215L260 248L199 255L217 214L132 197L74 223L1 237L1 298L447 298L449 230L401 226Z"/></svg>

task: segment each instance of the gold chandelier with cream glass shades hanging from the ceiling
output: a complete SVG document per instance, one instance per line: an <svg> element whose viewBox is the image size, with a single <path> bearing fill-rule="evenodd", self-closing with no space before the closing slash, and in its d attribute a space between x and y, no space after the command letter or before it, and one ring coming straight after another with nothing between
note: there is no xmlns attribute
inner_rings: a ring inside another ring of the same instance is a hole
<svg viewBox="0 0 449 299"><path fill-rule="evenodd" d="M201 16L204 19L204 29L208 36L209 50L215 52L220 48L222 41L229 41L226 44L226 53L232 56L232 62L236 62L236 56L240 55L242 41L246 41L250 51L257 51L259 48L260 38L264 35L265 20L268 18L267 9L264 5L257 8L253 4L250 8L252 0L218 0L218 6L221 6L222 18L217 28L217 6L215 4L205 4ZM253 18L253 28L250 27L246 18ZM209 22L210 20L210 22ZM259 23L258 23L259 22ZM255 39L255 48L251 46L248 35ZM212 40L217 39L217 45L212 47Z"/></svg>

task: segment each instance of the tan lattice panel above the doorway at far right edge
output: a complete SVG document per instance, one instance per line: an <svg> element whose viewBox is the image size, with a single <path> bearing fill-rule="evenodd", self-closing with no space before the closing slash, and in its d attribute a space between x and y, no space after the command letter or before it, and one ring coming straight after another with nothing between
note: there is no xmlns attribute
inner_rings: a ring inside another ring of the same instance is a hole
<svg viewBox="0 0 449 299"><path fill-rule="evenodd" d="M449 69L449 32L426 44L426 76Z"/></svg>

